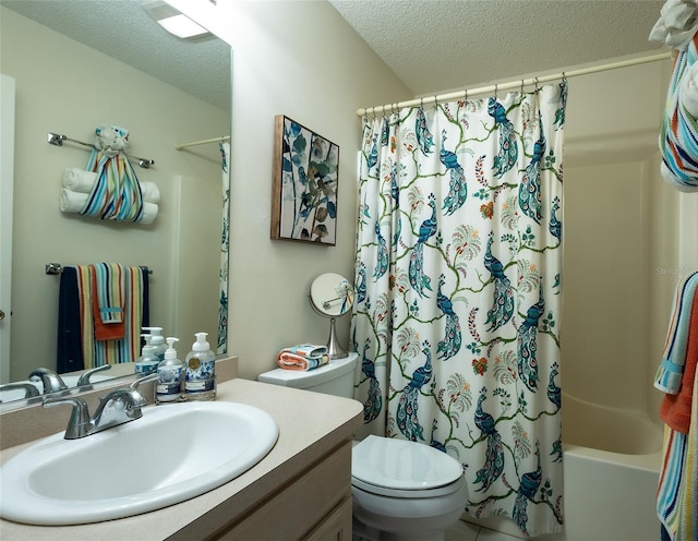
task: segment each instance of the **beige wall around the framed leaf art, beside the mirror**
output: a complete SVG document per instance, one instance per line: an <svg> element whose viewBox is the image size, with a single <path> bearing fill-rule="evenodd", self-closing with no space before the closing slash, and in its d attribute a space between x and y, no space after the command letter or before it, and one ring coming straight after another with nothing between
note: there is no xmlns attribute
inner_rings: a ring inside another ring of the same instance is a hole
<svg viewBox="0 0 698 541"><path fill-rule="evenodd" d="M221 2L219 2L219 5ZM325 1L232 2L232 189L229 349L240 375L276 368L282 347L324 344L329 322L308 293L320 274L353 276L359 107L411 97ZM339 145L337 244L269 240L274 117ZM349 316L338 322L348 345Z"/></svg>

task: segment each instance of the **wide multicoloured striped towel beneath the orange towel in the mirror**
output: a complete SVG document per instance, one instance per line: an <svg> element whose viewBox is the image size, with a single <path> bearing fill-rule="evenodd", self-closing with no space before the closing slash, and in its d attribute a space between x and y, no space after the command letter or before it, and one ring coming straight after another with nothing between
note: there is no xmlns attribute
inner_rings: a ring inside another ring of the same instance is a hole
<svg viewBox="0 0 698 541"><path fill-rule="evenodd" d="M141 353L141 327L144 325L144 312L147 308L147 270L141 267L121 267L123 276L123 326L121 339L99 340L96 336L93 267L79 265L77 287L80 296L80 320L85 369L133 362Z"/></svg>

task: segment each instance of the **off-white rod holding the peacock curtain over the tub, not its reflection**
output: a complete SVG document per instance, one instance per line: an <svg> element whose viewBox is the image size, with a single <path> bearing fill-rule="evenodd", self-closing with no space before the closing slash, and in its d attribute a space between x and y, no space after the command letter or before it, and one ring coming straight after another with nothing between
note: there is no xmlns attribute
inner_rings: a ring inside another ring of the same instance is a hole
<svg viewBox="0 0 698 541"><path fill-rule="evenodd" d="M607 70L616 70L618 68L626 68L629 65L637 65L637 64L643 64L643 63L648 63L648 62L655 62L658 60L665 60L667 58L672 58L672 52L661 52L659 55L650 55L648 57L641 57L641 58L636 58L633 60L622 60L618 62L612 62L612 63L607 63L607 64L602 64L602 65L595 65L592 68L582 68L579 70L571 70L571 71L564 71L561 73L555 73L553 75L543 75L540 77L531 77L531 79L520 79L517 81L512 81L509 83L502 83L502 84L493 84L490 86L482 86L480 88L468 88L465 91L458 91L458 92L453 92L449 94L442 94L442 95L436 95L433 97L428 97L428 98L416 98L416 99L409 99L407 101L400 101L398 104L386 104L386 105L378 105L375 107L368 107L365 109L357 109L357 115L359 117L363 117L364 115L375 115L376 111L381 111L381 112L385 112L385 110L392 110L392 109L402 109L404 107L414 107L418 105L422 105L425 101L426 103L432 103L434 105L443 103L443 101L452 101L454 99L458 99L458 98L465 98L468 96L472 96L476 94L486 94L486 93L496 93L497 91L508 91L512 88L520 88L522 86L528 86L528 85L533 85L533 84L540 84L540 83L546 83L549 81L555 81L558 79L569 79L569 77L575 77L578 75L587 75L588 73L597 73L600 71L607 71Z"/></svg>

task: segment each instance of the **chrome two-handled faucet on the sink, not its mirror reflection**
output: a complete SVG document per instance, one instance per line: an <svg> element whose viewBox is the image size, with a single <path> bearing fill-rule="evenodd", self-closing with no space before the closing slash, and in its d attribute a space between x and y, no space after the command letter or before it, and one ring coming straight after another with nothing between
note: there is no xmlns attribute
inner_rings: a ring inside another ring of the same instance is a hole
<svg viewBox="0 0 698 541"><path fill-rule="evenodd" d="M157 374L149 374L134 381L129 387L110 390L99 399L95 417L89 416L87 402L77 397L49 397L44 400L45 408L70 404L73 411L65 429L65 440L77 440L119 424L143 417L141 408L147 406L147 399L139 390L139 385L154 381Z"/></svg>

